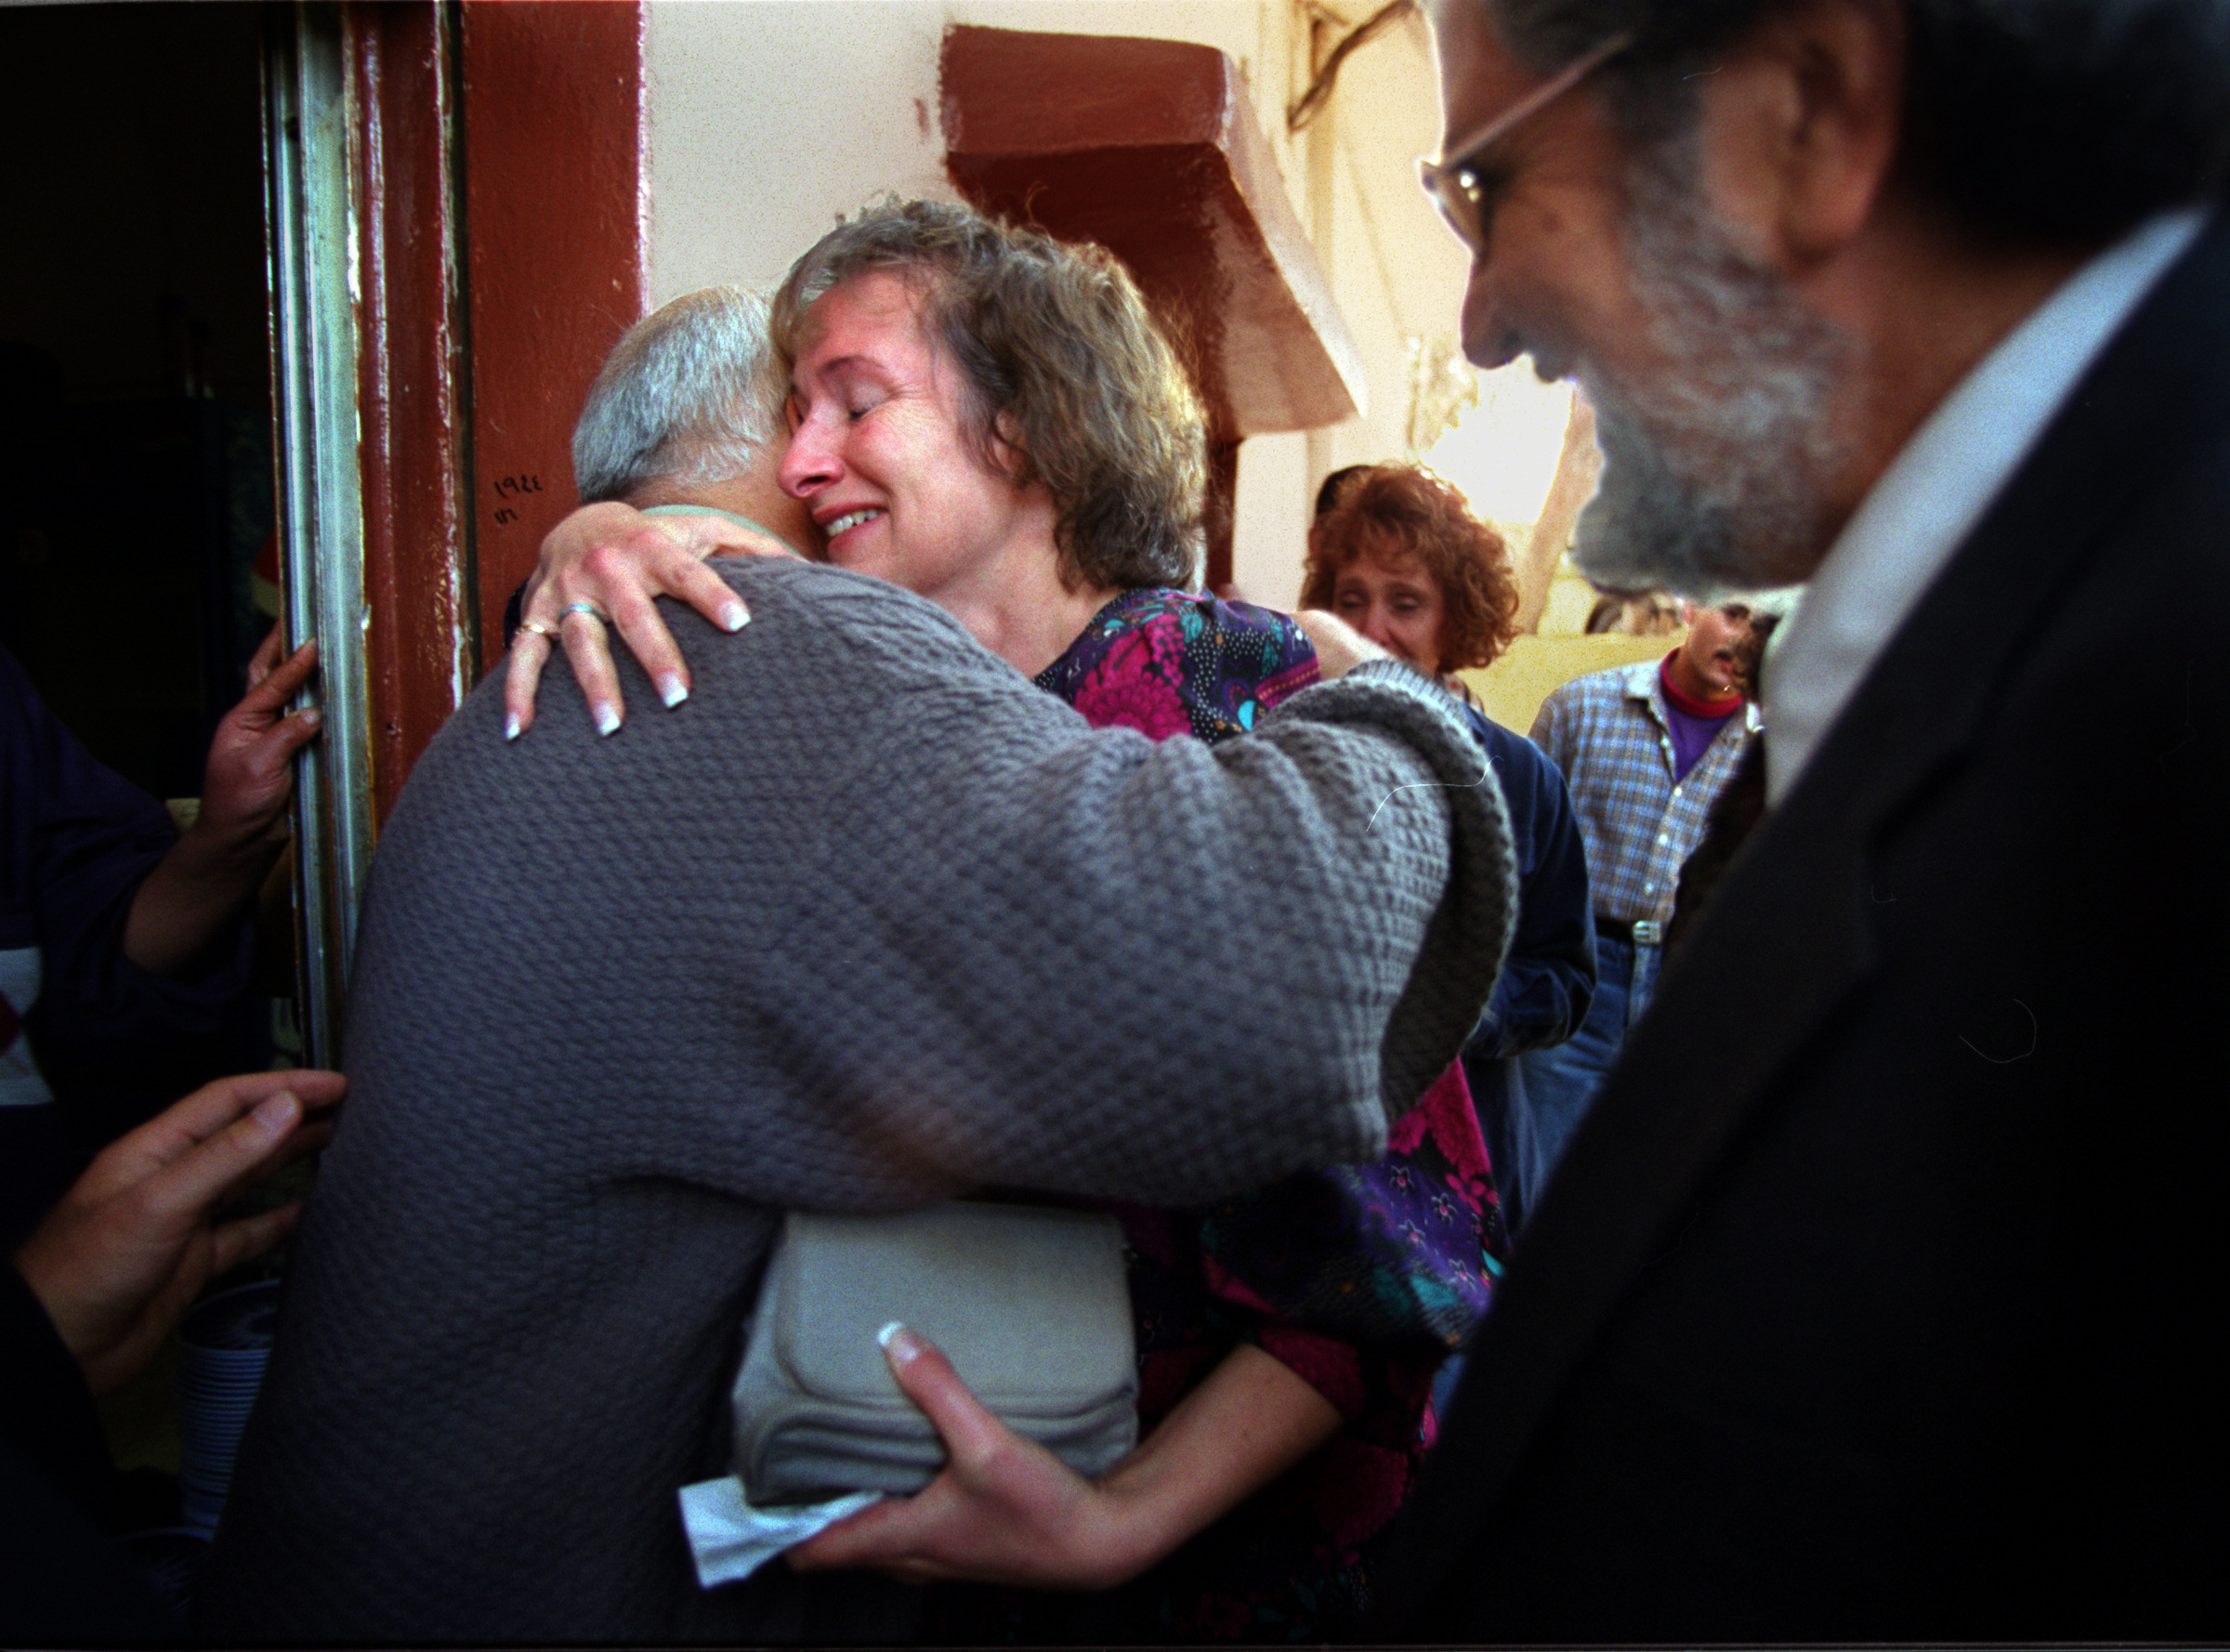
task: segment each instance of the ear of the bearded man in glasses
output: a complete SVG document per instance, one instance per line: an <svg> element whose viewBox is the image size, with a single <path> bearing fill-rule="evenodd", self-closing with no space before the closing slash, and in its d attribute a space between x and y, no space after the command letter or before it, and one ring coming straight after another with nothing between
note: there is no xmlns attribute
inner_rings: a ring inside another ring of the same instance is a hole
<svg viewBox="0 0 2230 1652"><path fill-rule="evenodd" d="M1904 45L1900 0L1800 0L1710 71L1706 187L1751 252L1802 274L1873 218L1902 129Z"/></svg>

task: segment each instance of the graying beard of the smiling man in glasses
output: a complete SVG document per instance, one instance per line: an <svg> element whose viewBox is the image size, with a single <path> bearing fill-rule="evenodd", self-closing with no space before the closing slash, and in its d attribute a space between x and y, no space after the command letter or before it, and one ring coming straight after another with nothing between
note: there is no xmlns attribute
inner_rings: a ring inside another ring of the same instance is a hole
<svg viewBox="0 0 2230 1652"><path fill-rule="evenodd" d="M1664 366L1646 386L1579 372L1603 475L1572 562L1601 586L1717 602L1795 584L1824 555L1851 343L1726 241L1675 163L1646 156L1628 178L1630 279Z"/></svg>

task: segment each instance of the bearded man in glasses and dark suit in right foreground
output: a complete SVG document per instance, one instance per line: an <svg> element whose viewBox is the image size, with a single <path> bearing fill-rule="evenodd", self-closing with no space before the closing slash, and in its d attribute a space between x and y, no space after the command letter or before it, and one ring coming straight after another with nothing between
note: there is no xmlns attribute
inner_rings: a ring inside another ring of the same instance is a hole
<svg viewBox="0 0 2230 1652"><path fill-rule="evenodd" d="M1581 571L1809 586L1383 1632L2221 1641L2230 4L1429 11Z"/></svg>

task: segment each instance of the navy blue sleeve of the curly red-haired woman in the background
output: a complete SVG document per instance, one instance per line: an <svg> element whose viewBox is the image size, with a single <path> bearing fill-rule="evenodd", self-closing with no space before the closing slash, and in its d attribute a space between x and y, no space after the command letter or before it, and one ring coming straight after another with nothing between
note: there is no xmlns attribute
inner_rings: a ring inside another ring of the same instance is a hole
<svg viewBox="0 0 2230 1652"><path fill-rule="evenodd" d="M1465 1046L1465 1059L1496 1061L1563 1043L1588 1017L1594 997L1594 907L1579 816L1557 765L1532 740L1470 707L1465 716L1503 783L1519 858L1519 921L1510 959Z"/></svg>

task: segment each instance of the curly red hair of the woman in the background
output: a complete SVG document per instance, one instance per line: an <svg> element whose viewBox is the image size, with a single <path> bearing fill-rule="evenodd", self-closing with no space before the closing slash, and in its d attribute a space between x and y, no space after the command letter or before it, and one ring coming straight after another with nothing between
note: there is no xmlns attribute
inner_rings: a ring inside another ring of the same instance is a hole
<svg viewBox="0 0 2230 1652"><path fill-rule="evenodd" d="M1441 586L1441 671L1494 664L1516 635L1519 584L1503 535L1421 464L1376 464L1309 528L1300 606L1329 609L1340 569L1414 560Z"/></svg>

